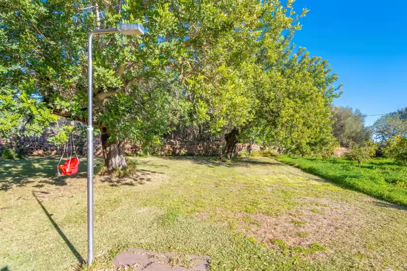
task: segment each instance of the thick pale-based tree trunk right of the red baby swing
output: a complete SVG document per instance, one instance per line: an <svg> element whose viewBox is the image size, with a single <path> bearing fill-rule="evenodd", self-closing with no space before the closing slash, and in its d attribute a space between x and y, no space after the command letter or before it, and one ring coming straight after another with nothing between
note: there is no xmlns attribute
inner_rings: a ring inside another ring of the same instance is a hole
<svg viewBox="0 0 407 271"><path fill-rule="evenodd" d="M109 142L109 134L106 133L106 128L102 128L102 150L105 165L108 171L115 168L124 169L126 164L125 159L125 141Z"/></svg>

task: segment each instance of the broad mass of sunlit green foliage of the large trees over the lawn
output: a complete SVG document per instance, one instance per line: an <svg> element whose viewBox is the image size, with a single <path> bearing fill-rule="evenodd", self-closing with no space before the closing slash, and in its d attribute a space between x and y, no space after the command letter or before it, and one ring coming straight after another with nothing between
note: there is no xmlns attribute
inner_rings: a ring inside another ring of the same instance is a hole
<svg viewBox="0 0 407 271"><path fill-rule="evenodd" d="M293 53L307 13L293 2L4 0L1 136L38 134L56 116L87 124L88 33L142 23L143 36L94 37L92 124L107 166L125 140L158 142L182 125L224 136L229 158L239 140L303 154L332 146L340 86L327 60Z"/></svg>

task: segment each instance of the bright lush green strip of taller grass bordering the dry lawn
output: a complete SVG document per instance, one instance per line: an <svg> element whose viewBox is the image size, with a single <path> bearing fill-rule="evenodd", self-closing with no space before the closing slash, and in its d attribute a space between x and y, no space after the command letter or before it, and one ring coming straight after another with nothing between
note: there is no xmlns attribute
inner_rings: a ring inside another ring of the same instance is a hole
<svg viewBox="0 0 407 271"><path fill-rule="evenodd" d="M279 161L306 170L343 187L407 206L407 167L390 159L370 159L361 165L344 158L279 156Z"/></svg>

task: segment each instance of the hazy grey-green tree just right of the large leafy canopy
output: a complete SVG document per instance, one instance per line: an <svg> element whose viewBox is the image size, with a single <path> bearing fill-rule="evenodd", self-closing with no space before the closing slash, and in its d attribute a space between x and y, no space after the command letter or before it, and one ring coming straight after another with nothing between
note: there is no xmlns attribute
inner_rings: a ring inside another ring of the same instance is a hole
<svg viewBox="0 0 407 271"><path fill-rule="evenodd" d="M372 138L370 129L365 128L365 115L359 109L350 107L333 107L332 134L339 141L341 147L352 148L361 146Z"/></svg>

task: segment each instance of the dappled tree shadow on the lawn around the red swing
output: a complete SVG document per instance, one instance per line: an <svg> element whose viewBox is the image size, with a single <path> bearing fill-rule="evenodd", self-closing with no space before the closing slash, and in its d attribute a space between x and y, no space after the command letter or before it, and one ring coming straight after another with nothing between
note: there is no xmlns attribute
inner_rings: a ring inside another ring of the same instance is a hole
<svg viewBox="0 0 407 271"><path fill-rule="evenodd" d="M0 191L7 191L13 186L23 187L34 180L43 178L40 182L63 186L67 178L86 178L87 161L81 157L78 174L71 176L58 176L58 157L29 157L27 159L5 160L0 159ZM99 162L101 158L95 158ZM63 163L63 161L61 162ZM35 185L41 188L41 184Z"/></svg>

